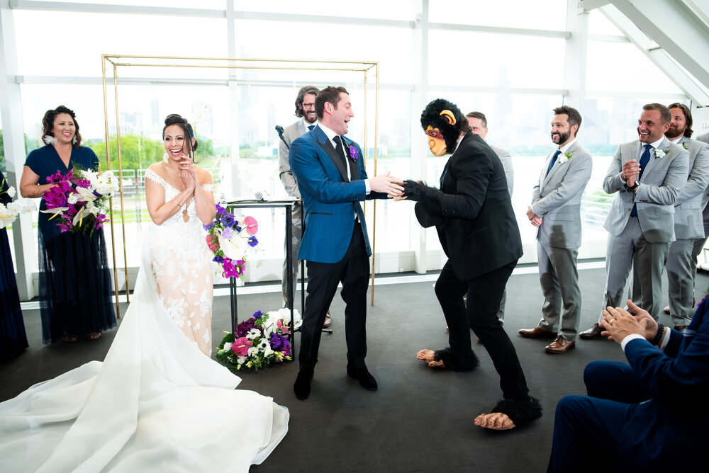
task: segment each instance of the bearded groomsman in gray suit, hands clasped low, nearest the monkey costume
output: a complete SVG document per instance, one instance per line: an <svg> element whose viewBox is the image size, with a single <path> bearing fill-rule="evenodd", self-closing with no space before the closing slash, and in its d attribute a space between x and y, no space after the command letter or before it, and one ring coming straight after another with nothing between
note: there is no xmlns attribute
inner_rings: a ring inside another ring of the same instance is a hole
<svg viewBox="0 0 709 473"><path fill-rule="evenodd" d="M544 348L547 353L566 353L576 346L579 333L581 290L576 258L581 246L581 198L593 169L591 155L576 142L580 126L578 110L554 108L551 135L559 147L547 156L527 210L537 227L544 304L539 324L519 333L527 338L554 338Z"/></svg>

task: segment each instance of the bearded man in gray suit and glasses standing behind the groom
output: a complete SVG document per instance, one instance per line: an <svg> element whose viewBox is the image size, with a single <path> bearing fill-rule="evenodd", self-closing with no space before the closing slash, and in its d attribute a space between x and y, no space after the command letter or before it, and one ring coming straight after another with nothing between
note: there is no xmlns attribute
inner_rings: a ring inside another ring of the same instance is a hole
<svg viewBox="0 0 709 473"><path fill-rule="evenodd" d="M297 137L304 135L309 130L318 125L318 115L315 113L315 98L318 95L317 87L305 86L298 91L298 96L296 97L296 117L300 120L288 125L283 129L283 135L281 135L281 144L278 147L278 174L281 178L281 183L286 189L288 195L296 198L301 198L301 191L298 190L298 183L296 182L296 177L291 171L291 164L288 161L288 156L291 148L291 143ZM300 266L298 258L298 249L301 247L301 238L303 236L303 205L297 202L291 211L291 229L293 232L293 240L291 241L291 254L293 255L293 266L288 267L288 261L283 262L283 277L281 278L281 290L283 292L284 303L288 300L288 289L286 285L288 271L293 273L293 290L296 289L296 281L298 280L298 266ZM285 243L289 244L288 241ZM324 327L330 326L332 324L332 319L330 319L330 311L328 310L327 316L325 316Z"/></svg>

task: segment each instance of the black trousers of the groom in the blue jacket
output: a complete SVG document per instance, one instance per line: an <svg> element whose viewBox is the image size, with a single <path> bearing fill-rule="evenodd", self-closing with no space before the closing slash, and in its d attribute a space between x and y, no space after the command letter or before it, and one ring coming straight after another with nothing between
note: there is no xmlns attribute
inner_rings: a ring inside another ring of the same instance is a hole
<svg viewBox="0 0 709 473"><path fill-rule="evenodd" d="M308 229L311 231L311 229ZM345 301L345 340L347 363L355 369L364 367L367 355L367 285L369 256L364 245L362 225L355 222L350 246L337 263L308 261L308 296L301 326L301 351L298 355L302 372L313 372L318 363L318 349L323 322L333 302L337 285L342 282Z"/></svg>

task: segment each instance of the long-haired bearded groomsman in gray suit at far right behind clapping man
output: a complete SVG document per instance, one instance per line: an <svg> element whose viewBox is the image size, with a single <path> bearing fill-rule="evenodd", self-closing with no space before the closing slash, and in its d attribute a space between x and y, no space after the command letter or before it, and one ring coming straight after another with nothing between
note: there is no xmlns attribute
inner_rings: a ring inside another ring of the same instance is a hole
<svg viewBox="0 0 709 473"><path fill-rule="evenodd" d="M664 312L671 314L676 330L686 329L692 320L694 307L694 281L697 276L697 256L706 241L702 210L709 201L709 145L692 136L692 113L686 105L673 103L669 130L665 137L689 152L689 176L674 205L674 234L676 240L667 256L667 283L669 306ZM638 275L634 271L635 287Z"/></svg>

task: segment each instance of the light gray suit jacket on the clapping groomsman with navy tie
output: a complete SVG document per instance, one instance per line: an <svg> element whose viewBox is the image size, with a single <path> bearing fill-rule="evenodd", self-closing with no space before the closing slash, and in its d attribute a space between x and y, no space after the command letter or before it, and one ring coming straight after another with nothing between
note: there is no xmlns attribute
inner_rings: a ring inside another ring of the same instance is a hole
<svg viewBox="0 0 709 473"><path fill-rule="evenodd" d="M640 178L640 187L635 192L620 180L620 171L623 171L623 163L628 159L640 161L642 143L624 143L615 150L603 179L606 193L618 193L603 225L610 234L618 236L623 232L635 204L644 239L650 243L674 241L674 203L687 182L689 153L666 138L659 149L665 153L664 156L657 156L654 150L650 152L650 160Z"/></svg>

